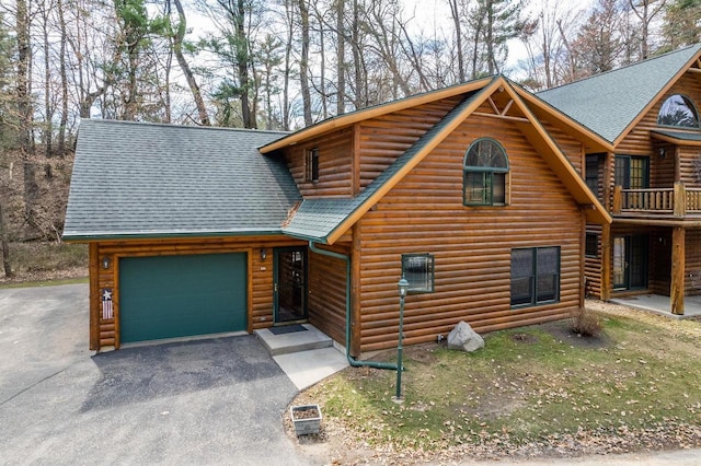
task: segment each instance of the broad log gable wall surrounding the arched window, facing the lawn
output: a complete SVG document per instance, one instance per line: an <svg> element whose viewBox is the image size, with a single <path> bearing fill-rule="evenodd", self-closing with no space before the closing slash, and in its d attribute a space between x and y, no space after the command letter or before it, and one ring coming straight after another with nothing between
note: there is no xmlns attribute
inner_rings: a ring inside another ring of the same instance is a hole
<svg viewBox="0 0 701 466"><path fill-rule="evenodd" d="M395 128L397 143L402 131ZM387 137L391 137L388 135ZM490 137L507 151L510 205L462 206L462 163L472 141ZM564 318L582 290L582 212L509 120L470 117L361 219L361 348L397 345L401 255L435 255L435 292L406 299L407 345L435 340L461 321L491 331ZM510 306L515 247L560 246L560 302Z"/></svg>

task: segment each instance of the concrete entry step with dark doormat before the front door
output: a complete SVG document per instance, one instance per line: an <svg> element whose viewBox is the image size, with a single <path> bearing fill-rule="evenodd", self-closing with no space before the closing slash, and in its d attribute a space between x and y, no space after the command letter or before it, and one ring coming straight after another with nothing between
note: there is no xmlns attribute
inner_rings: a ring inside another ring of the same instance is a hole
<svg viewBox="0 0 701 466"><path fill-rule="evenodd" d="M333 340L310 324L296 324L255 330L254 334L271 356L289 354L333 347ZM292 331L289 331L292 330Z"/></svg>

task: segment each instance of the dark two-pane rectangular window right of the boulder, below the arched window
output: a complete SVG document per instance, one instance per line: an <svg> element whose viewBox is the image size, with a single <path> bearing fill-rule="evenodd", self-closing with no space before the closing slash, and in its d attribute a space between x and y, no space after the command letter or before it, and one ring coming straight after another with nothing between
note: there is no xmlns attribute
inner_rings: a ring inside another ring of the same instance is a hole
<svg viewBox="0 0 701 466"><path fill-rule="evenodd" d="M512 249L512 306L560 301L560 246Z"/></svg>

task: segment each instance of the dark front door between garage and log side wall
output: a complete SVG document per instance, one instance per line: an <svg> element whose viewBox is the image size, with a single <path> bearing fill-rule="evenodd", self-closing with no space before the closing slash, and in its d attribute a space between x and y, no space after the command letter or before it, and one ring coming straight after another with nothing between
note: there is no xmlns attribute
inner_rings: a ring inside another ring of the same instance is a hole
<svg viewBox="0 0 701 466"><path fill-rule="evenodd" d="M307 248L280 247L274 253L275 324L307 319Z"/></svg>

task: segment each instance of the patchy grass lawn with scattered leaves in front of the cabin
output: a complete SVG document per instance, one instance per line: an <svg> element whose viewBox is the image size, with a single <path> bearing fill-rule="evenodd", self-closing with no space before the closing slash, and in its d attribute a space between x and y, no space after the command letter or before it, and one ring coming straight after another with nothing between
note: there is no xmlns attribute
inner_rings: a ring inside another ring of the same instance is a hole
<svg viewBox="0 0 701 466"><path fill-rule="evenodd" d="M354 368L298 400L322 407L327 432L317 442L343 432L345 442L424 459L700 446L701 322L600 316L596 338L560 322L489 334L471 354L407 347L402 405L391 401L395 372Z"/></svg>

